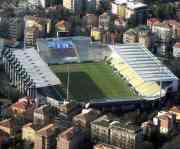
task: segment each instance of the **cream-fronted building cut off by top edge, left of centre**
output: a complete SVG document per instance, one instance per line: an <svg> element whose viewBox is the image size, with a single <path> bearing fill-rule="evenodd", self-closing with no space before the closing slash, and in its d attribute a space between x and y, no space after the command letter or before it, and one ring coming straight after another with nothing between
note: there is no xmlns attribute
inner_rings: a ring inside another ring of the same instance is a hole
<svg viewBox="0 0 180 149"><path fill-rule="evenodd" d="M76 14L81 13L82 4L82 0L63 0L63 7Z"/></svg>

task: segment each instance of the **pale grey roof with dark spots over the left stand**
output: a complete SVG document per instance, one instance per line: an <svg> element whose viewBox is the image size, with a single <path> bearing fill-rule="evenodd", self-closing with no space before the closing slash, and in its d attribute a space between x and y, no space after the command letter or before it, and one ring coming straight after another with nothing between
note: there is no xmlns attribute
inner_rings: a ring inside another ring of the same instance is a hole
<svg viewBox="0 0 180 149"><path fill-rule="evenodd" d="M33 79L37 88L61 84L60 80L41 59L34 48L15 50L13 54Z"/></svg>

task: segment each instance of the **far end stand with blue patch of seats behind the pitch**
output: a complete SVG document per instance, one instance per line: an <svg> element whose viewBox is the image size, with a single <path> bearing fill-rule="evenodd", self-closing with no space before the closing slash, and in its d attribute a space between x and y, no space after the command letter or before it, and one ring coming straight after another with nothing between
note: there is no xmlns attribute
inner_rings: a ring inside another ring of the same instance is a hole
<svg viewBox="0 0 180 149"><path fill-rule="evenodd" d="M37 50L48 64L101 61L111 51L107 45L92 42L90 37L70 36L37 40Z"/></svg>

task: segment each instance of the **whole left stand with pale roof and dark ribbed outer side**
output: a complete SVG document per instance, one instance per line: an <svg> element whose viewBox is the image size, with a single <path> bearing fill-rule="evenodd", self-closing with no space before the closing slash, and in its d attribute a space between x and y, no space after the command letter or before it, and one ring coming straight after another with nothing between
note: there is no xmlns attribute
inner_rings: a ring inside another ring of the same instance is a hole
<svg viewBox="0 0 180 149"><path fill-rule="evenodd" d="M5 72L22 95L36 98L37 89L61 84L34 48L2 51Z"/></svg>

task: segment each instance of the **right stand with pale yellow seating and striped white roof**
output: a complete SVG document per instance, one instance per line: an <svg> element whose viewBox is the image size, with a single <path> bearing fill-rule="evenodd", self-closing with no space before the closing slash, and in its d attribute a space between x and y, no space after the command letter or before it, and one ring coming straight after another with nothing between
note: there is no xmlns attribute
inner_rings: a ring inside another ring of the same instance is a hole
<svg viewBox="0 0 180 149"><path fill-rule="evenodd" d="M108 61L140 96L157 99L167 91L177 91L178 78L141 44L109 47L112 53Z"/></svg>

